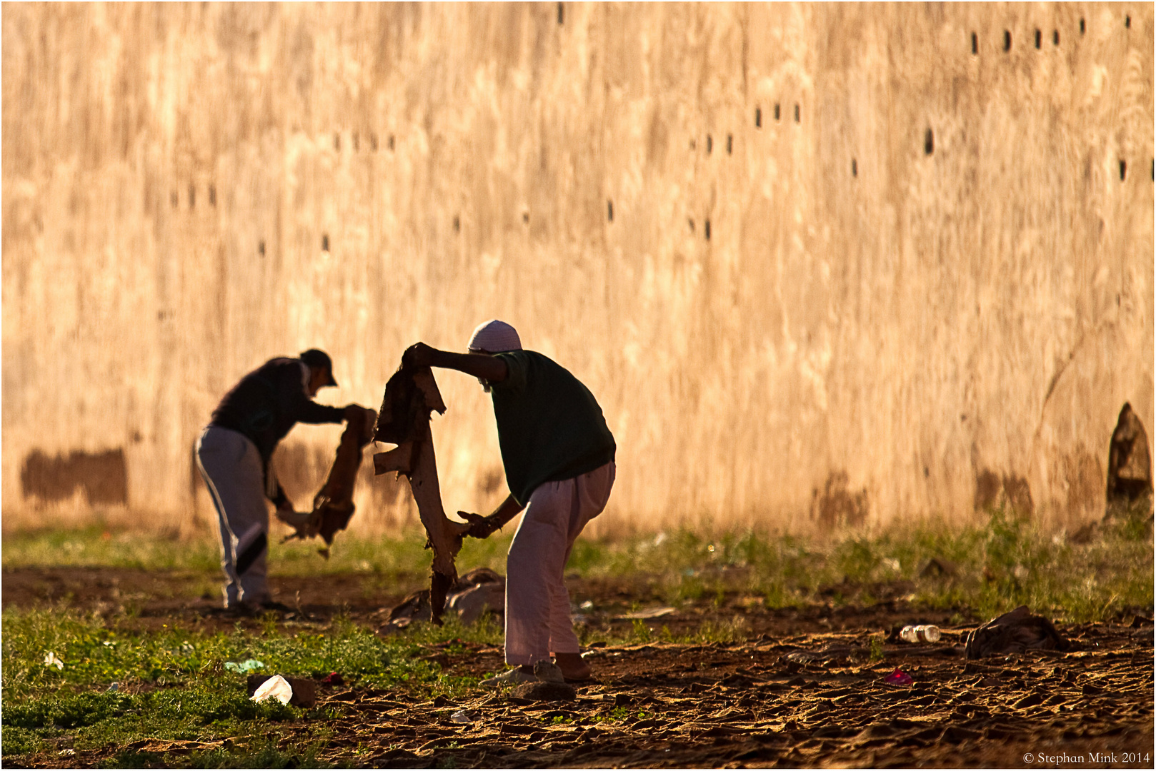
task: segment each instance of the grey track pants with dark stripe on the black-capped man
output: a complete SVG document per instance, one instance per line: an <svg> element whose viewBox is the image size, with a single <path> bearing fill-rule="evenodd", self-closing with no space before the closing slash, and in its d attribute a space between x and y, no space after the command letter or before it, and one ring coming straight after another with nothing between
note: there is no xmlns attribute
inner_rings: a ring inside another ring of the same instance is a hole
<svg viewBox="0 0 1156 771"><path fill-rule="evenodd" d="M197 440L197 465L221 526L225 607L267 601L269 510L257 446L243 433L210 425Z"/></svg>

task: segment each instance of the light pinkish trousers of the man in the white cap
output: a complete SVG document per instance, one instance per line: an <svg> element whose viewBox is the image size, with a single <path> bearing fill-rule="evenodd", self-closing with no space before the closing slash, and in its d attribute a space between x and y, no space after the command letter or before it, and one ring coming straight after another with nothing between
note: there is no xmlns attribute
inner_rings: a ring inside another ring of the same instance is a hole
<svg viewBox="0 0 1156 771"><path fill-rule="evenodd" d="M578 534L606 509L614 472L612 461L581 476L546 482L529 496L506 557L506 663L578 653L563 571Z"/></svg>

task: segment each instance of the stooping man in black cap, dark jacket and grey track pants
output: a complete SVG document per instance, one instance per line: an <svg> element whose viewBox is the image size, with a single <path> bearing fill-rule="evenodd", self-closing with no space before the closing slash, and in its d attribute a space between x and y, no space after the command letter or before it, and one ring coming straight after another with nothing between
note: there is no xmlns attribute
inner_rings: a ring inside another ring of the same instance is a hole
<svg viewBox="0 0 1156 771"><path fill-rule="evenodd" d="M301 525L299 514L269 467L277 443L296 423L341 423L356 405L326 407L313 401L335 386L333 362L316 348L299 358L271 358L224 395L197 440L197 465L213 496L221 525L224 606L242 610L284 609L266 584L269 510Z"/></svg>

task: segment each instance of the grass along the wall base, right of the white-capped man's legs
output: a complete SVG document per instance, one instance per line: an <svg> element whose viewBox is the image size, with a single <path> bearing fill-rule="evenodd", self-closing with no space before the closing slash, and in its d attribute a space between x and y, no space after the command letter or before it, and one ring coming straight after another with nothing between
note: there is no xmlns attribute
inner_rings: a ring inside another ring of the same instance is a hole
<svg viewBox="0 0 1156 771"><path fill-rule="evenodd" d="M674 605L712 596L724 607L735 594L761 595L768 608L813 601L870 605L898 596L916 608L951 609L972 618L1027 605L1059 621L1101 621L1153 607L1148 506L1102 524L1087 543L993 511L981 525L905 522L825 542L680 531L587 543L568 570L587 577L655 574ZM949 563L954 572L922 574L932 558Z"/></svg>

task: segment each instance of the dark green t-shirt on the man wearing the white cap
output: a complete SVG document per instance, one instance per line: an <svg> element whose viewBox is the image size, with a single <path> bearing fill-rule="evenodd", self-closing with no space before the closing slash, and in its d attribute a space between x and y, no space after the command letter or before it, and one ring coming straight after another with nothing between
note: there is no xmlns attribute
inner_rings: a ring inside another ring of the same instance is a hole
<svg viewBox="0 0 1156 771"><path fill-rule="evenodd" d="M614 460L602 408L578 378L533 350L497 354L507 375L492 384L506 484L526 505L542 482L569 480Z"/></svg>

